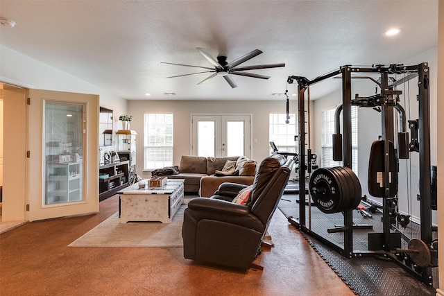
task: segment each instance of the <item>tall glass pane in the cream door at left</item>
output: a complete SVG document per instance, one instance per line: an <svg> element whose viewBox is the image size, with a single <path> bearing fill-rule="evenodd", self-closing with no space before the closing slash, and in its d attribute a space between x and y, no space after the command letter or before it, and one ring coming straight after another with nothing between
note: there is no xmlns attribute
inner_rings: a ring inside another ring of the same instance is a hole
<svg viewBox="0 0 444 296"><path fill-rule="evenodd" d="M83 200L83 104L44 103L44 204Z"/></svg>

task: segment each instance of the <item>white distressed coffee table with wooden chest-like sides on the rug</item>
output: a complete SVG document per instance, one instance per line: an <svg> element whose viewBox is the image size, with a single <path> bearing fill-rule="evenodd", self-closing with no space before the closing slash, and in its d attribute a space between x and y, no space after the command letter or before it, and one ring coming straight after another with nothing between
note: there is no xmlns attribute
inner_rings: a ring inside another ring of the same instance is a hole
<svg viewBox="0 0 444 296"><path fill-rule="evenodd" d="M144 189L139 189L139 183L136 183L122 189L117 193L120 223L128 221L171 223L171 219L183 202L184 182L183 179L168 180L162 187Z"/></svg>

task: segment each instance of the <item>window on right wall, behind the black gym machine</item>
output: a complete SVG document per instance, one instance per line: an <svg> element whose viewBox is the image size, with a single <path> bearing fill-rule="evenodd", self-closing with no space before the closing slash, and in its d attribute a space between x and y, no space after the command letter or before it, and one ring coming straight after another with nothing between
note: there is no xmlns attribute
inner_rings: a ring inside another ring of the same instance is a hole
<svg viewBox="0 0 444 296"><path fill-rule="evenodd" d="M335 162L333 160L333 139L334 134L334 113L336 107L322 112L322 141L321 141L321 166L330 168L332 166L342 166L342 162ZM357 174L358 172L358 107L352 106L352 170Z"/></svg>

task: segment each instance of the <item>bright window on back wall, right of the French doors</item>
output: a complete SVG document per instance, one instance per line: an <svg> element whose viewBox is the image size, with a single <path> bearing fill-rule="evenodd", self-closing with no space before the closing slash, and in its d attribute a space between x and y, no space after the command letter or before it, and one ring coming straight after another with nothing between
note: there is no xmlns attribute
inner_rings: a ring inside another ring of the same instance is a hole
<svg viewBox="0 0 444 296"><path fill-rule="evenodd" d="M296 146L296 114L290 113L289 123L285 123L287 120L287 114L285 113L271 113L269 119L270 141L275 142L278 150L287 152L298 153ZM271 153L270 147L270 153Z"/></svg>

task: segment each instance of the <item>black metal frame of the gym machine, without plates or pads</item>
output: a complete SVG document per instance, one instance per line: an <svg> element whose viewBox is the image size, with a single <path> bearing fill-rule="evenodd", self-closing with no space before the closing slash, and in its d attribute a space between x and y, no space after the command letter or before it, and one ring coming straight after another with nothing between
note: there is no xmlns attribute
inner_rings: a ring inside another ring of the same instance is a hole
<svg viewBox="0 0 444 296"><path fill-rule="evenodd" d="M380 82L377 82L370 77L355 77L355 78L368 78L373 80L379 85L381 89L381 94L379 98L383 98L382 101L377 102L377 106L382 110L382 140L384 140L384 171L382 172L382 180L384 184L383 198L384 202L382 204L382 222L383 222L383 233L379 236L381 250L375 251L358 251L353 250L353 228L354 225L352 221L352 210L343 211L343 227L341 227L341 232L343 232L343 247L332 241L327 240L320 234L316 234L311 229L311 225L307 227L306 225L306 205L305 200L307 195L307 190L305 189L305 177L299 178L299 219L289 217L289 223L293 226L301 229L318 239L325 245L328 245L333 250L336 250L346 258L358 258L361 256L375 256L377 254L384 256L387 259L391 259L398 265L400 265L405 270L409 271L412 275L417 277L422 283L432 286L432 266L438 265L437 252L432 252L431 254L431 264L421 267L412 263L408 259L407 254L409 250L405 253L400 254L400 250L395 250L395 245L393 245L393 232L391 233L393 219L395 218L395 207L397 205L397 198L390 196L390 175L389 175L389 141L394 143L394 124L393 124L393 108L396 107L398 112L400 112L401 125L405 126L404 119L402 119L402 114L404 110L397 104L396 97L401 93L393 89L398 85L401 85L407 80L418 76L418 120L409 121L409 126L411 128L411 142L408 145L409 151L416 151L419 153L419 167L420 167L420 240L425 243L425 245L432 245L432 186L431 186L431 171L430 171L430 130L429 130L429 67L427 63L421 63L418 65L404 66L402 64L391 64L388 66L384 65L373 65L372 67L353 67L351 65L345 65L339 69L327 73L323 76L318 76L313 80L308 80L302 76L289 76L287 83L292 84L294 80L298 82L298 114L299 114L299 159L305 159L306 155L306 129L305 129L305 91L310 85L314 85L318 82L326 80L328 78L333 78L334 76L341 75L342 80L342 113L343 113L343 166L352 168L352 127L351 127L351 107L352 105L359 105L358 102L352 101L352 90L351 90L351 80L352 73L379 73ZM407 74L404 78L393 82L393 84L388 85L388 76L393 74ZM339 77L336 77L339 78ZM405 95L405 94L404 94ZM357 100L358 101L358 100ZM375 107L375 105L365 105L360 103L361 107ZM336 110L337 112L337 110ZM340 110L339 110L340 112ZM337 126L337 125L336 125ZM419 130L419 132L418 132ZM339 132L339 131L336 131ZM403 130L405 132L405 130ZM405 134L404 134L405 136ZM408 134L407 134L408 137ZM405 148L405 147L404 147ZM406 148L407 149L407 148ZM308 149L307 154L311 151ZM402 153L402 152L401 152ZM409 152L407 151L407 156L402 158L408 158ZM309 156L309 155L308 155ZM396 159L398 162L398 159ZM311 172L309 162L299 162L299 173L300 176L305 176L305 173ZM398 173L398 172L396 172ZM310 221L311 223L311 221ZM436 230L436 227L433 228ZM399 238L399 236L398 236ZM395 238L394 241L396 241ZM421 243L422 244L422 243ZM391 252L395 251L395 252ZM413 253L413 250L411 250ZM415 250L416 251L416 250ZM433 250L432 250L433 251ZM430 250L427 250L430 252Z"/></svg>

